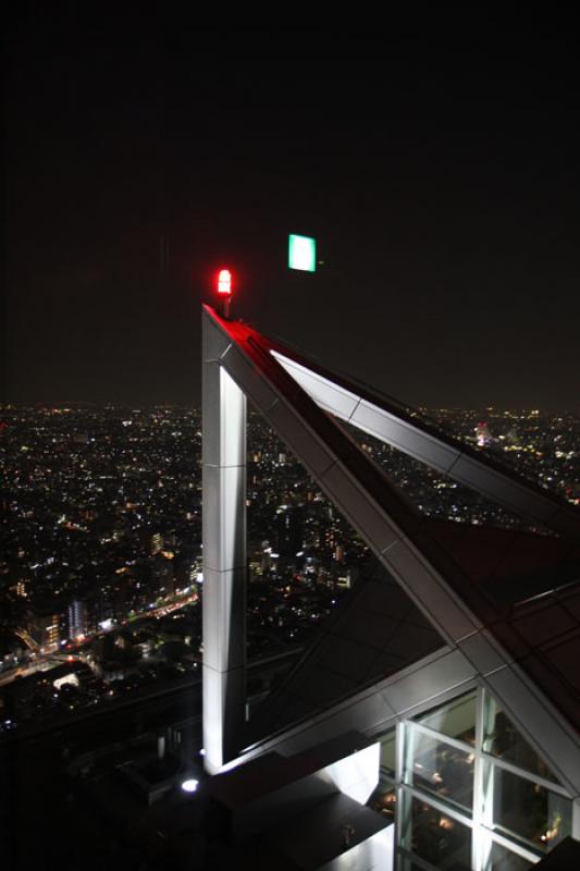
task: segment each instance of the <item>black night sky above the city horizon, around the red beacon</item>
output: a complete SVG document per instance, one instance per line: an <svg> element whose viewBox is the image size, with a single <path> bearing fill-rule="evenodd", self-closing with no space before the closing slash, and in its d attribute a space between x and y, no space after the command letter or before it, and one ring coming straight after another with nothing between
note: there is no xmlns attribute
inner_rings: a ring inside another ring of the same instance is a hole
<svg viewBox="0 0 580 871"><path fill-rule="evenodd" d="M221 30L22 5L4 401L198 403L200 303L229 266L234 317L400 400L580 412L562 9ZM287 270L288 232L317 237L314 275Z"/></svg>

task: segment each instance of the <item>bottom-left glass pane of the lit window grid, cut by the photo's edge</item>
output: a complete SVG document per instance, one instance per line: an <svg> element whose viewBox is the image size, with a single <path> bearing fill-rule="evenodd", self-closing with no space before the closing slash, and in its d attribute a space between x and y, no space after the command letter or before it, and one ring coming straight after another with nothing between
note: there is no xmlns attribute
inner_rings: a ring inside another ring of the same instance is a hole
<svg viewBox="0 0 580 871"><path fill-rule="evenodd" d="M418 798L410 799L410 827L405 847L435 868L471 868L471 830Z"/></svg>

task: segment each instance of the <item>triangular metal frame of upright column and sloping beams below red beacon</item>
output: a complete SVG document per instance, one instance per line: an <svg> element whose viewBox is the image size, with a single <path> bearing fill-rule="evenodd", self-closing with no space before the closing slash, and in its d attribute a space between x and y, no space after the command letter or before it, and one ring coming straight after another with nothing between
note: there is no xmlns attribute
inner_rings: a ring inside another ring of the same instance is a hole
<svg viewBox="0 0 580 871"><path fill-rule="evenodd" d="M366 691L365 703L359 699L361 715L384 704L390 713L383 719L388 720L417 706L421 695L433 698L429 687L434 686L430 682L435 673L440 694L476 679L489 687L523 735L541 748L571 795L579 796L578 734L494 637L489 628L494 616L489 600L326 412L533 523L577 538L578 513L406 409L205 307L203 733L208 770L221 770L242 750L252 755L275 744L267 741L262 750L244 747L246 396L444 639L442 655L435 661L428 658L424 671L414 668L400 679L390 678L382 701L377 694L373 701ZM346 722L347 710L353 706L342 703L325 719ZM317 720L320 724L321 719ZM300 726L298 743L311 740L316 729L313 720ZM284 737L279 743L283 746Z"/></svg>

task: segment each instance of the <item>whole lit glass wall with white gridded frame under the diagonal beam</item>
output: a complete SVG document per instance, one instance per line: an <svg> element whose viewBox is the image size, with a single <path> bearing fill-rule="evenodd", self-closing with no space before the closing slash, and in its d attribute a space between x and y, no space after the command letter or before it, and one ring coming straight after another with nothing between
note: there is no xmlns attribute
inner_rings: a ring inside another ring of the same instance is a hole
<svg viewBox="0 0 580 871"><path fill-rule="evenodd" d="M526 871L571 833L570 797L482 688L379 737L369 806L396 821L399 871Z"/></svg>

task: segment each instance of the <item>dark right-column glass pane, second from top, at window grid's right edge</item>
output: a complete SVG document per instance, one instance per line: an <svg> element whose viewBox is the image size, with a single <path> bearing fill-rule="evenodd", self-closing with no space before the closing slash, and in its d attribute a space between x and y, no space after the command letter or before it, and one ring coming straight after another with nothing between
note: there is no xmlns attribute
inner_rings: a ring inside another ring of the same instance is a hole
<svg viewBox="0 0 580 871"><path fill-rule="evenodd" d="M493 823L497 831L547 850L571 832L571 801L494 765Z"/></svg>

